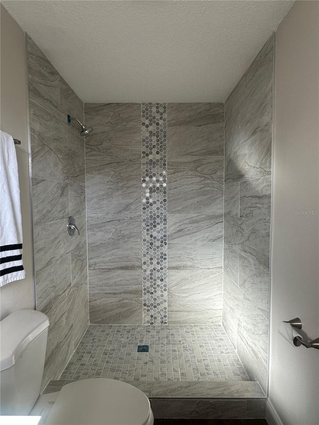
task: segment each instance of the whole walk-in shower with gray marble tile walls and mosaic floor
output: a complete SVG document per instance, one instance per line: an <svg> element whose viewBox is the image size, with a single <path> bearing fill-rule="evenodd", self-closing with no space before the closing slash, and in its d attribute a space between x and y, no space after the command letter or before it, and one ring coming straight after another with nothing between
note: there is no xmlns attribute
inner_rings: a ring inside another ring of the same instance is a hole
<svg viewBox="0 0 319 425"><path fill-rule="evenodd" d="M30 40L28 48L32 80L34 57L43 59ZM61 193L50 214L34 215L37 306L53 324L47 392L111 378L142 389L152 408L159 398L218 398L237 417L264 408L272 58L270 38L226 103L83 104L60 80L55 113L78 123L64 135L74 160L59 160L64 143L45 120L39 137L56 137L55 150L45 150L46 167L32 156L33 205ZM72 238L65 211L79 229Z"/></svg>

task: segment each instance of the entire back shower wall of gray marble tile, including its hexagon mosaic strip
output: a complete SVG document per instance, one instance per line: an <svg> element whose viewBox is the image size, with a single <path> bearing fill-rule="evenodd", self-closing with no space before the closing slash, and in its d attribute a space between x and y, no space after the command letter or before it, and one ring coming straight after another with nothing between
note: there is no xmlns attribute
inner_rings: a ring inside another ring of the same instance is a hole
<svg viewBox="0 0 319 425"><path fill-rule="evenodd" d="M86 104L85 119L91 323L220 323L223 104ZM150 194L159 210L142 210Z"/></svg>

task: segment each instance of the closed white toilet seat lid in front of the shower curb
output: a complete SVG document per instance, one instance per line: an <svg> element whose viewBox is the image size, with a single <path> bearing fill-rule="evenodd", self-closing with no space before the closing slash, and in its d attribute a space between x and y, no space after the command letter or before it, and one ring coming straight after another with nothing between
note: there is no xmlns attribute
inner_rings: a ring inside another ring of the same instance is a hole
<svg viewBox="0 0 319 425"><path fill-rule="evenodd" d="M62 387L46 425L148 425L151 419L150 401L138 388L93 378Z"/></svg>

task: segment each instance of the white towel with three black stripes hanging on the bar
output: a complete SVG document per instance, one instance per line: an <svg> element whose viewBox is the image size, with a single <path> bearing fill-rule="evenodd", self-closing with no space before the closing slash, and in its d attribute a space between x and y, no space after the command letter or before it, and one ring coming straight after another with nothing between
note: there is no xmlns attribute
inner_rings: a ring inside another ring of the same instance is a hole
<svg viewBox="0 0 319 425"><path fill-rule="evenodd" d="M18 164L13 138L0 131L0 286L24 278Z"/></svg>

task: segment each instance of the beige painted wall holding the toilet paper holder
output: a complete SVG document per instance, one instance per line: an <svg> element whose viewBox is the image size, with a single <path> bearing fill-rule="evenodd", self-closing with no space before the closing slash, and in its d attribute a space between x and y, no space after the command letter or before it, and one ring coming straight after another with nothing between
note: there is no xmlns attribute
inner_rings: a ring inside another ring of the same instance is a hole
<svg viewBox="0 0 319 425"><path fill-rule="evenodd" d="M276 38L269 400L283 424L315 425L319 351L278 327L299 316L319 336L319 216L294 213L319 210L319 1L297 1Z"/></svg>

